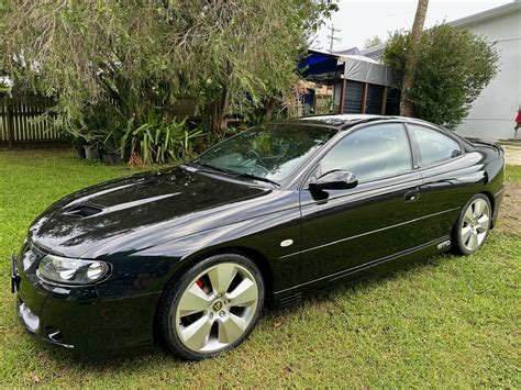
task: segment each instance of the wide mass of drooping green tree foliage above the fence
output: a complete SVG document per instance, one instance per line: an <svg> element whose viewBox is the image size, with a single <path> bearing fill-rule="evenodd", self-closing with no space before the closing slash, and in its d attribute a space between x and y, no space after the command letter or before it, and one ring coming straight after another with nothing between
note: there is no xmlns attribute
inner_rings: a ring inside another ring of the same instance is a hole
<svg viewBox="0 0 521 390"><path fill-rule="evenodd" d="M307 38L335 5L312 0L3 1L0 68L57 98L57 123L92 110L140 124L191 97L214 131L231 107L287 89Z"/></svg>

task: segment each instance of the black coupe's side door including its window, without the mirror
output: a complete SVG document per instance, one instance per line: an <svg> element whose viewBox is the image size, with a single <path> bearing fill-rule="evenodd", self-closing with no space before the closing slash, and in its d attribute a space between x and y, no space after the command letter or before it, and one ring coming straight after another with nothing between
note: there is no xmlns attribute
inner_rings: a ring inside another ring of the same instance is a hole
<svg viewBox="0 0 521 390"><path fill-rule="evenodd" d="M356 175L358 186L310 191L313 176L334 169ZM304 279L362 269L422 244L421 183L402 123L367 125L332 146L300 190Z"/></svg>

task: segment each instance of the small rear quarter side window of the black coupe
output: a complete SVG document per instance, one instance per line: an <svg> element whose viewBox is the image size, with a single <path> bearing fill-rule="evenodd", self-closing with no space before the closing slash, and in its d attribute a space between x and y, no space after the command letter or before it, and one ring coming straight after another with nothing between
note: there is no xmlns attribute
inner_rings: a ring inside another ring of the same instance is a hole
<svg viewBox="0 0 521 390"><path fill-rule="evenodd" d="M457 142L434 130L408 125L414 134L420 151L420 166L443 163L462 154Z"/></svg>

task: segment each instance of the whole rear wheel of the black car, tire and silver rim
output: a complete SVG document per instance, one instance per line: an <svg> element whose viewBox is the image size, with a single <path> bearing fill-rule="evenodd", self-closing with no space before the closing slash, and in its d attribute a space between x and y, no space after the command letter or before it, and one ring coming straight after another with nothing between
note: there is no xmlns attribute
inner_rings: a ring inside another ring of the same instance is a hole
<svg viewBox="0 0 521 390"><path fill-rule="evenodd" d="M492 208L487 196L478 193L463 208L452 232L453 249L459 255L479 250L490 233Z"/></svg>

